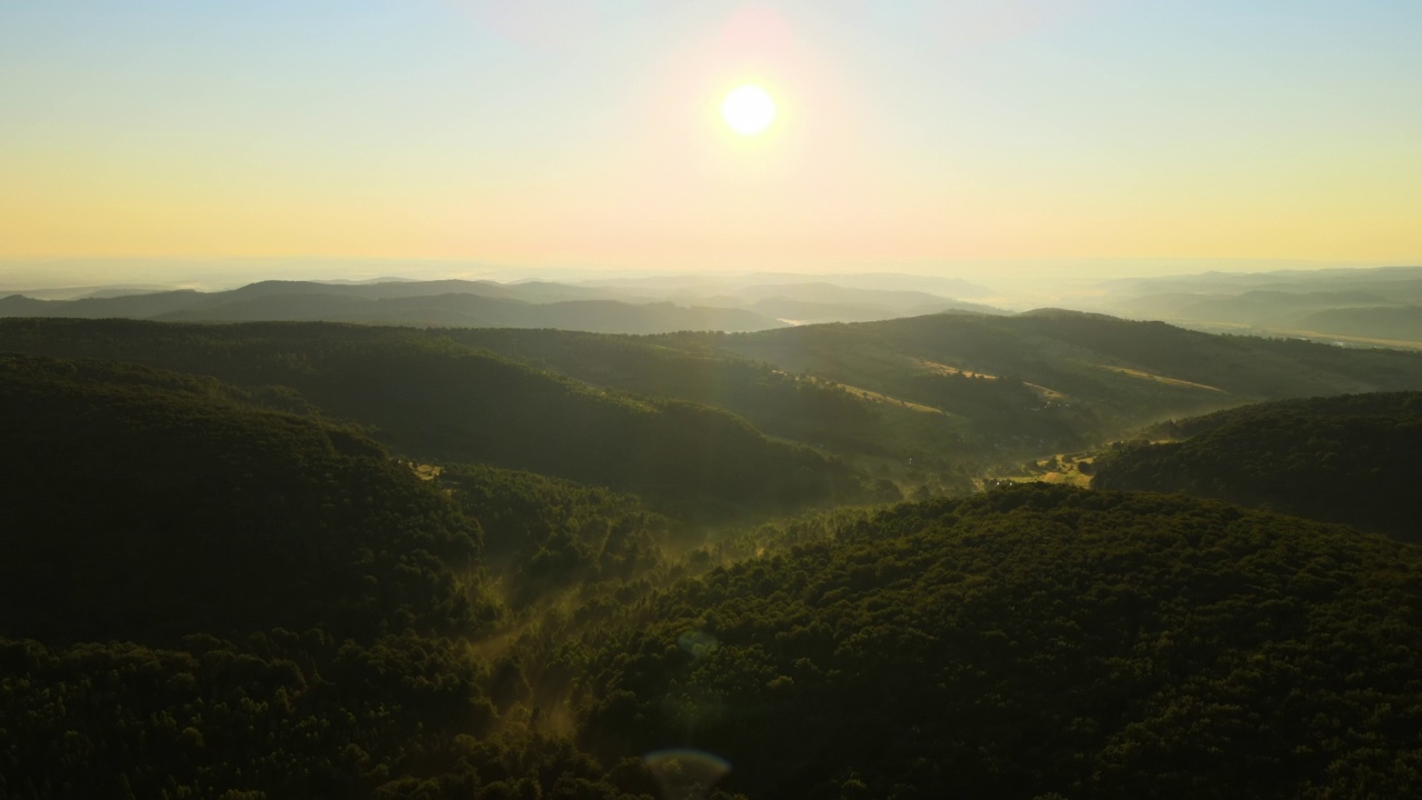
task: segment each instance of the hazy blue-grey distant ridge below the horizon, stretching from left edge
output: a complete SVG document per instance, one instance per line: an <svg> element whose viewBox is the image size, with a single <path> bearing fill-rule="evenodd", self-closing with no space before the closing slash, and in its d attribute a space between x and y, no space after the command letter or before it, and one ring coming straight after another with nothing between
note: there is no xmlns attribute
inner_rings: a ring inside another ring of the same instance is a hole
<svg viewBox="0 0 1422 800"><path fill-rule="evenodd" d="M53 292L38 295L55 296ZM459 327L553 327L600 333L731 333L805 322L893 319L940 310L1001 313L921 290L823 282L755 283L734 295L526 280L262 280L222 292L90 290L65 299L0 298L0 316L169 322L357 322Z"/></svg>

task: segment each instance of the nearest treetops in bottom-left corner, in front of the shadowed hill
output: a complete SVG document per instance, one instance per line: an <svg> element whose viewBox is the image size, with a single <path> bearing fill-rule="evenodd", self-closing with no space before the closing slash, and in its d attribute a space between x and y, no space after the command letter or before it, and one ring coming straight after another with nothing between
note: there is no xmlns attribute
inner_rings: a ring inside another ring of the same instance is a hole
<svg viewBox="0 0 1422 800"><path fill-rule="evenodd" d="M486 680L461 645L410 635L0 639L0 796L614 800L653 784L640 763L495 733Z"/></svg>

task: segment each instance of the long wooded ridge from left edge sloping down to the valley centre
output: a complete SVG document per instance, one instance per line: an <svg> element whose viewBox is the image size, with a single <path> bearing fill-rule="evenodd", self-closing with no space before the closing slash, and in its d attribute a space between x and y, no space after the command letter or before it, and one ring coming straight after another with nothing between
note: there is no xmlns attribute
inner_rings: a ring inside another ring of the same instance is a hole
<svg viewBox="0 0 1422 800"><path fill-rule="evenodd" d="M593 389L438 330L0 320L3 350L134 362L252 390L284 387L292 403L370 426L404 456L609 485L688 518L897 497L892 487L872 490L836 458L769 440L725 411Z"/></svg>

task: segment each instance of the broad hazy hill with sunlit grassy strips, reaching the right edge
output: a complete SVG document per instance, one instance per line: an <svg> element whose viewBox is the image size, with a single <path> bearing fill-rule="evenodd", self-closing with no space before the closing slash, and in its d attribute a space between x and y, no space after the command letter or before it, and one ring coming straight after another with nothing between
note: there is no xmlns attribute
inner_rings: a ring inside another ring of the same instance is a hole
<svg viewBox="0 0 1422 800"><path fill-rule="evenodd" d="M1422 389L1422 354L1213 336L1042 310L749 335L451 330L609 389L728 409L900 483L961 491L994 461L1066 451L1166 417L1347 391Z"/></svg>

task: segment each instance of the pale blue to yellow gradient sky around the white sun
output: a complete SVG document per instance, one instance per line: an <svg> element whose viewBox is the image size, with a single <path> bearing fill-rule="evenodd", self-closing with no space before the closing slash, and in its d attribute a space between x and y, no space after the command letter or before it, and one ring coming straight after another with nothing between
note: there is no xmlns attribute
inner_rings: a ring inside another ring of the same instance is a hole
<svg viewBox="0 0 1422 800"><path fill-rule="evenodd" d="M0 259L1422 263L1419 33L1416 0L0 0ZM720 115L748 83L758 135Z"/></svg>

